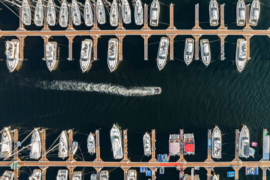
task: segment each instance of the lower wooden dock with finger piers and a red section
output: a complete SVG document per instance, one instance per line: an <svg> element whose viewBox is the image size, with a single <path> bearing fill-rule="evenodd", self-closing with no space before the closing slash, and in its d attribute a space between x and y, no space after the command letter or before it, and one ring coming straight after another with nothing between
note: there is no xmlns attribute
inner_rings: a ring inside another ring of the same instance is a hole
<svg viewBox="0 0 270 180"><path fill-rule="evenodd" d="M264 129L265 130L265 129ZM177 160L175 162L159 162L155 158L156 150L155 150L155 129L152 129L152 158L149 161L145 162L132 162L128 159L127 156L127 129L123 131L123 143L124 143L124 158L121 161L103 161L100 157L100 146L99 146L99 130L96 130L96 158L94 161L76 161L73 158L72 153L69 153L67 160L59 160L59 161L50 161L46 158L46 149L45 149L45 140L46 140L46 130L42 129L41 132L41 143L42 143L42 150L41 154L42 157L40 157L39 160L35 161L28 161L28 160L21 160L18 157L18 130L14 129L12 132L14 132L14 153L12 160L9 161L0 161L0 166L11 166L12 163L16 163L17 165L14 168L14 180L18 179L18 169L23 166L38 166L42 170L42 180L46 179L46 169L51 166L65 166L69 169L69 177L72 177L73 170L77 166L89 166L94 167L97 171L97 179L100 177L100 171L103 167L121 167L124 171L124 180L127 180L127 171L128 169L132 167L148 167L150 170L152 170L152 180L155 180L155 173L157 171L157 168L159 167L176 167L180 170L180 174L184 174L184 169L187 167L204 167L207 169L207 179L211 179L211 170L214 167L232 167L235 169L235 179L239 178L239 170L242 167L245 166L259 166L263 169L263 179L266 180L266 174L267 169L270 167L270 161L269 160L263 160L260 161L242 161L239 158L239 129L236 129L236 149L235 149L235 158L232 161L215 161L211 158L211 154L209 154L209 150L211 151L211 148L209 149L208 146L208 157L205 161L197 161L197 162L189 162L184 159L184 157L179 157L180 160ZM69 129L68 131L68 143L72 147L72 135L73 131L72 129ZM183 129L180 129L181 132L184 132ZM211 132L208 130L208 139L211 138ZM71 152L71 150L70 150ZM181 152L182 153L182 152ZM182 158L182 159L181 159ZM71 179L70 179L71 180Z"/></svg>

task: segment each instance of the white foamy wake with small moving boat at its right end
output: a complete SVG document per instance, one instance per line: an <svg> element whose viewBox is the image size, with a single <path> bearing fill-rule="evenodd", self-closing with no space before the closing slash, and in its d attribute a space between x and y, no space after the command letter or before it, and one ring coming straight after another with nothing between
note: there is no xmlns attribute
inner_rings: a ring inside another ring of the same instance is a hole
<svg viewBox="0 0 270 180"><path fill-rule="evenodd" d="M87 83L73 80L39 80L35 87L54 90L95 91L123 96L146 96L161 93L160 87L124 87L121 85L107 83Z"/></svg>

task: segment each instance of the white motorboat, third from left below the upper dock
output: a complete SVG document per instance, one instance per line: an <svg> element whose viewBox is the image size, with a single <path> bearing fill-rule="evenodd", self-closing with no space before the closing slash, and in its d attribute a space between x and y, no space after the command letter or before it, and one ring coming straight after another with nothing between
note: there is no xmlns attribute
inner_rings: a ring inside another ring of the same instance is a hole
<svg viewBox="0 0 270 180"><path fill-rule="evenodd" d="M92 39L85 39L81 42L80 67L82 72L87 71L91 66Z"/></svg>

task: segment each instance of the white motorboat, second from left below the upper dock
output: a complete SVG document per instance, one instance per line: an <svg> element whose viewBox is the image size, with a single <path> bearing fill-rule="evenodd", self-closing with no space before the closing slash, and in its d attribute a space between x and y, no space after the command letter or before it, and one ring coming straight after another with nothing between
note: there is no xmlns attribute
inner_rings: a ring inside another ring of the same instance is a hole
<svg viewBox="0 0 270 180"><path fill-rule="evenodd" d="M56 49L57 42L48 42L45 44L45 59L47 67L50 71L55 68L56 65Z"/></svg>

